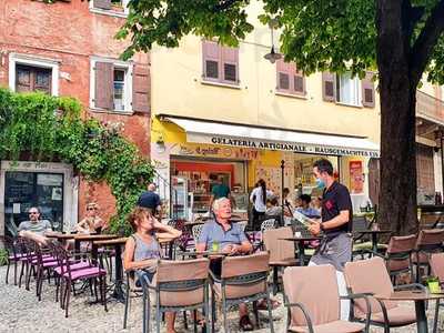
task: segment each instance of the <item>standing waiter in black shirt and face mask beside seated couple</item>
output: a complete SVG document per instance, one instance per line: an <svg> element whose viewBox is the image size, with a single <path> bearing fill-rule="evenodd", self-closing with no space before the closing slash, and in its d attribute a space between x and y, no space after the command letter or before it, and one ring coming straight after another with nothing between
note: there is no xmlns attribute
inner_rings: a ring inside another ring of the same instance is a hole
<svg viewBox="0 0 444 333"><path fill-rule="evenodd" d="M321 159L313 164L319 188L323 188L322 221L313 221L309 230L313 235L324 232L320 246L309 265L332 264L336 269L340 295L346 295L344 265L352 260L352 238L349 233L353 218L352 200L347 188L335 181L333 165ZM341 319L349 317L350 301L341 301Z"/></svg>

